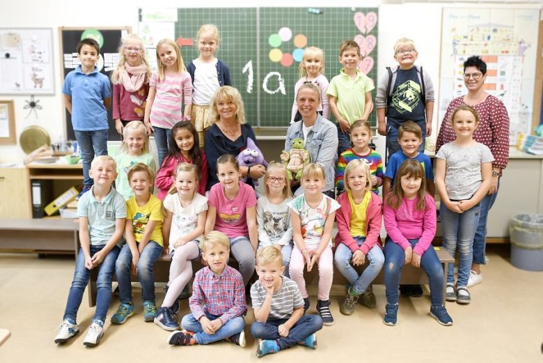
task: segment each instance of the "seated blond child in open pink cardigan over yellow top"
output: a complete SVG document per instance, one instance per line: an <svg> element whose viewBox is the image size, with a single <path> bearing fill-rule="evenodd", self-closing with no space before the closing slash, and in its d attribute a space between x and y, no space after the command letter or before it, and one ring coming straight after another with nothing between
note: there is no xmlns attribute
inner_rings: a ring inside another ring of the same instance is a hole
<svg viewBox="0 0 543 363"><path fill-rule="evenodd" d="M333 261L351 284L340 307L342 314L351 315L359 298L365 307L375 307L371 283L384 263L379 237L382 213L381 199L372 193L370 167L363 159L347 164L343 181L345 193L338 196L341 208L336 212L338 234ZM368 267L359 275L355 267L364 265L366 260Z"/></svg>

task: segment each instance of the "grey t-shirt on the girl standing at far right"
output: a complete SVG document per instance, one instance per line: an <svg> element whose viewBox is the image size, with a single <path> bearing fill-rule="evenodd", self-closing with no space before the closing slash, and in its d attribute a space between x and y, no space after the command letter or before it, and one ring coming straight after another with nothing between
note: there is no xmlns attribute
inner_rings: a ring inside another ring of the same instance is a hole
<svg viewBox="0 0 543 363"><path fill-rule="evenodd" d="M445 187L449 199L470 199L482 183L481 164L493 162L488 146L459 147L450 142L443 145L436 157L446 162Z"/></svg>

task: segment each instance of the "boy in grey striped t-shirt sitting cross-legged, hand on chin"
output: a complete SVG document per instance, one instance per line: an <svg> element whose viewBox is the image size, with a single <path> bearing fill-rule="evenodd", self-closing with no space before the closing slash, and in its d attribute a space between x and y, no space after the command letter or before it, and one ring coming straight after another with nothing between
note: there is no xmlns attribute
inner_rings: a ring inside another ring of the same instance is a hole
<svg viewBox="0 0 543 363"><path fill-rule="evenodd" d="M261 339L257 357L301 344L317 348L315 332L322 329L322 318L304 315L304 299L297 284L284 277L283 256L273 246L256 255L258 281L251 286L255 323L251 333ZM265 340L262 340L265 339Z"/></svg>

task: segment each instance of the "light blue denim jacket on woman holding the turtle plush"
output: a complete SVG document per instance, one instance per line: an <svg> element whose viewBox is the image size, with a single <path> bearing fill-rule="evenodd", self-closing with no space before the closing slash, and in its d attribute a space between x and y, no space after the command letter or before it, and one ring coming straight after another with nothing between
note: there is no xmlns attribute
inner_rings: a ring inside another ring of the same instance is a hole
<svg viewBox="0 0 543 363"><path fill-rule="evenodd" d="M303 122L298 121L288 128L287 139L285 140L286 151L292 148L292 139L304 139L304 132L301 130ZM336 164L338 162L338 128L326 118L317 114L317 121L315 121L313 129L308 133L304 144L311 157L310 162L316 162L324 168L326 186L322 191L333 190L333 180L336 176ZM294 195L299 196L303 192L304 189L299 187Z"/></svg>

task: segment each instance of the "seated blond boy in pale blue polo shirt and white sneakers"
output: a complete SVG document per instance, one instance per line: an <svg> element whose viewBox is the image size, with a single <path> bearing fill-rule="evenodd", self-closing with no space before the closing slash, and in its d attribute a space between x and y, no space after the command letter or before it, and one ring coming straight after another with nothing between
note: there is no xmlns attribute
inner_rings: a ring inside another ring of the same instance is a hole
<svg viewBox="0 0 543 363"><path fill-rule="evenodd" d="M113 157L96 157L89 171L94 185L77 203L81 248L75 262L74 278L68 293L63 322L55 337L57 344L65 343L79 333L76 323L77 310L93 268L98 270L96 311L83 344L97 346L104 334L104 321L111 302L111 279L126 222L125 197L111 186L117 177L116 170Z"/></svg>

